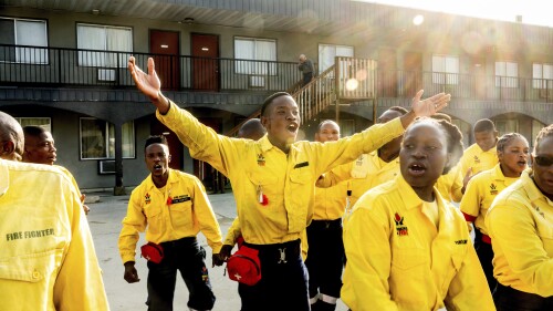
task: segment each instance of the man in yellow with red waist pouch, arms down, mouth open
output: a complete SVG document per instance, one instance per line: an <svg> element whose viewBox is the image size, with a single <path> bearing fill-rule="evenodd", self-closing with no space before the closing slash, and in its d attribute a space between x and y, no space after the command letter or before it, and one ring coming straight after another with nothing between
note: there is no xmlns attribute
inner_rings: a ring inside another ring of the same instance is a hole
<svg viewBox="0 0 553 311"><path fill-rule="evenodd" d="M201 182L192 175L169 168L169 147L165 136L146 141L145 159L152 173L136 187L128 201L119 235L119 252L127 282L139 281L135 268L138 232L146 230L150 245L143 249L148 260L149 310L173 310L177 271L190 293L188 307L211 310L215 296L206 268L206 251L196 236L201 230L213 250L213 265L219 263L221 230ZM153 260L154 252L160 260ZM160 256L163 253L163 256ZM158 261L158 262L156 262Z"/></svg>

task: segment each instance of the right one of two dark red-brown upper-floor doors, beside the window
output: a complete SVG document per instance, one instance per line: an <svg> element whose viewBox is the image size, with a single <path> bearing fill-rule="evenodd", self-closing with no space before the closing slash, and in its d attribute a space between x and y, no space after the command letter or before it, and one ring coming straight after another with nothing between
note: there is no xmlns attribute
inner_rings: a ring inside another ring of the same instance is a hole
<svg viewBox="0 0 553 311"><path fill-rule="evenodd" d="M192 89L219 91L219 37L192 33Z"/></svg>

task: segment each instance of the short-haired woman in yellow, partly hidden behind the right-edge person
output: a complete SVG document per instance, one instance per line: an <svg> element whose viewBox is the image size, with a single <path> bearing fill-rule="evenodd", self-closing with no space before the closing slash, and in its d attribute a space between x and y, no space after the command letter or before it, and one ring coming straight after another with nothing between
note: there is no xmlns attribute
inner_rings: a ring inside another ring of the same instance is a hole
<svg viewBox="0 0 553 311"><path fill-rule="evenodd" d="M499 164L484 170L470 179L467 191L462 197L460 209L468 222L473 222L477 234L474 249L478 259L488 280L490 291L495 289L497 281L493 278L493 250L491 239L486 229L486 212L493 199L504 188L517 182L526 168L529 157L528 141L518 133L509 133L501 136L497 145Z"/></svg>

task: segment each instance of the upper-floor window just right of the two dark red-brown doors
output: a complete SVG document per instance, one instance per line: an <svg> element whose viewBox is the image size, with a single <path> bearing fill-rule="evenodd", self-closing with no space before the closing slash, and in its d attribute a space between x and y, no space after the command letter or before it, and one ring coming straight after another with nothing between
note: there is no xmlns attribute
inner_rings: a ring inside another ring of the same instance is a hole
<svg viewBox="0 0 553 311"><path fill-rule="evenodd" d="M271 39L234 38L236 73L276 75L276 41Z"/></svg>

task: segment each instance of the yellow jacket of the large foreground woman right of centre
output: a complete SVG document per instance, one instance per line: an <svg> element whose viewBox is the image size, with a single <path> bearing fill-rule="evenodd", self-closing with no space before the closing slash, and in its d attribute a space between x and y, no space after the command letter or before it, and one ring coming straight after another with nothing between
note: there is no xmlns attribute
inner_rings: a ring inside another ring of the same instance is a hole
<svg viewBox="0 0 553 311"><path fill-rule="evenodd" d="M403 176L357 201L341 294L352 310L495 310L461 212L435 195L438 226Z"/></svg>

